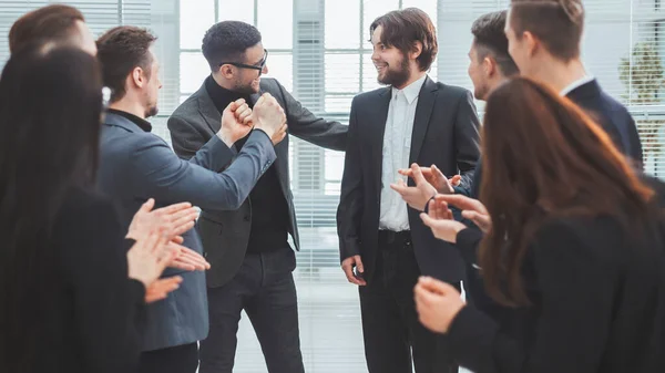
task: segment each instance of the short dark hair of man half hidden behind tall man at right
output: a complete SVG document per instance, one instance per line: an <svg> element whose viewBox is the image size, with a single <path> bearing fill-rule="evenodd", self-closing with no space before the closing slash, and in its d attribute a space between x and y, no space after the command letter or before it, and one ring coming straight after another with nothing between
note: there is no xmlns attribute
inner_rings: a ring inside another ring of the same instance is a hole
<svg viewBox="0 0 665 373"><path fill-rule="evenodd" d="M505 38L505 19L508 11L487 13L477 19L471 25L473 43L480 60L491 55L505 76L519 73L518 65L508 53L508 38Z"/></svg>

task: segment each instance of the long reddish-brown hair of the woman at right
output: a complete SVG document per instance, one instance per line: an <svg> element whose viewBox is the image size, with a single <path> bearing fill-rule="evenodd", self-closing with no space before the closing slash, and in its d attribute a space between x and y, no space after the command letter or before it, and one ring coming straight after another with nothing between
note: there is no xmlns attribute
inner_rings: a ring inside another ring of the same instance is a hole
<svg viewBox="0 0 665 373"><path fill-rule="evenodd" d="M482 146L480 195L492 229L479 262L488 293L504 304L529 303L522 261L546 218L608 215L626 225L648 219L654 191L598 125L543 84L518 77L492 92Z"/></svg>

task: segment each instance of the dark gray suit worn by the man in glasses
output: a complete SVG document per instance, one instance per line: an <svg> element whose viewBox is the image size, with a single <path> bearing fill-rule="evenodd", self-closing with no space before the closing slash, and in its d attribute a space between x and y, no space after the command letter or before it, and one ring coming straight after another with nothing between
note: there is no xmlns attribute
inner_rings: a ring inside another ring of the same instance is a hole
<svg viewBox="0 0 665 373"><path fill-rule="evenodd" d="M219 128L221 114L208 92L208 89L219 87L209 80L208 84L213 86L204 83L168 120L173 147L183 158L190 158ZM282 105L289 134L324 147L338 151L346 148L347 126L316 117L276 80L262 77L260 91L270 93ZM258 97L259 94L252 95L250 104ZM222 99L217 100L222 107L226 104L222 103ZM284 219L288 219L287 230L298 249L298 227L289 187L288 136L275 146L275 153L277 160L274 172L278 182L275 187L278 184L286 200L288 217L284 216ZM258 193L263 196L264 191L259 189ZM237 344L236 332L243 310L254 325L268 371L304 372L297 297L291 274L296 265L295 256L290 248L284 247L287 246L286 242L276 242L275 245L283 246L275 250L247 253L253 222L252 198L247 198L235 211L204 208L197 225L206 258L212 265L207 271L211 333L201 342L201 373L232 372ZM257 207L259 208L266 206ZM252 235L260 234L252 231Z"/></svg>

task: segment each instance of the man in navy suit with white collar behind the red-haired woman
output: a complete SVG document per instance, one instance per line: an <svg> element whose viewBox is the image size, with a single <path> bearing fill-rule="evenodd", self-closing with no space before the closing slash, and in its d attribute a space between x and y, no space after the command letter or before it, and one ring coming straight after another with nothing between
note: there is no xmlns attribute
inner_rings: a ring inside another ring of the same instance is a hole
<svg viewBox="0 0 665 373"><path fill-rule="evenodd" d="M521 74L548 83L577 104L642 168L635 121L584 69L580 58L583 30L581 0L512 0L505 23L509 52Z"/></svg>

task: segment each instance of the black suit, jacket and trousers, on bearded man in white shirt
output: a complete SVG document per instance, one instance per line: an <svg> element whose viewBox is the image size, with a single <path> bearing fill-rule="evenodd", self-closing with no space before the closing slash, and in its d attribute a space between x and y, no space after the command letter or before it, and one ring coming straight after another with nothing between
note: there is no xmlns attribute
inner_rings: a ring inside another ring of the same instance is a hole
<svg viewBox="0 0 665 373"><path fill-rule="evenodd" d="M454 367L446 351L436 350L434 334L418 322L413 287L420 274L458 284L464 263L454 247L434 238L413 209L408 209L410 231L379 231L381 188L390 187L381 185L390 90L359 94L351 104L337 213L340 257L359 255L365 266L367 286L359 291L369 371L411 372L410 345L418 373L448 373ZM418 95L409 164L436 164L448 176L460 173L468 188L479 157L478 128L471 93L427 77Z"/></svg>

